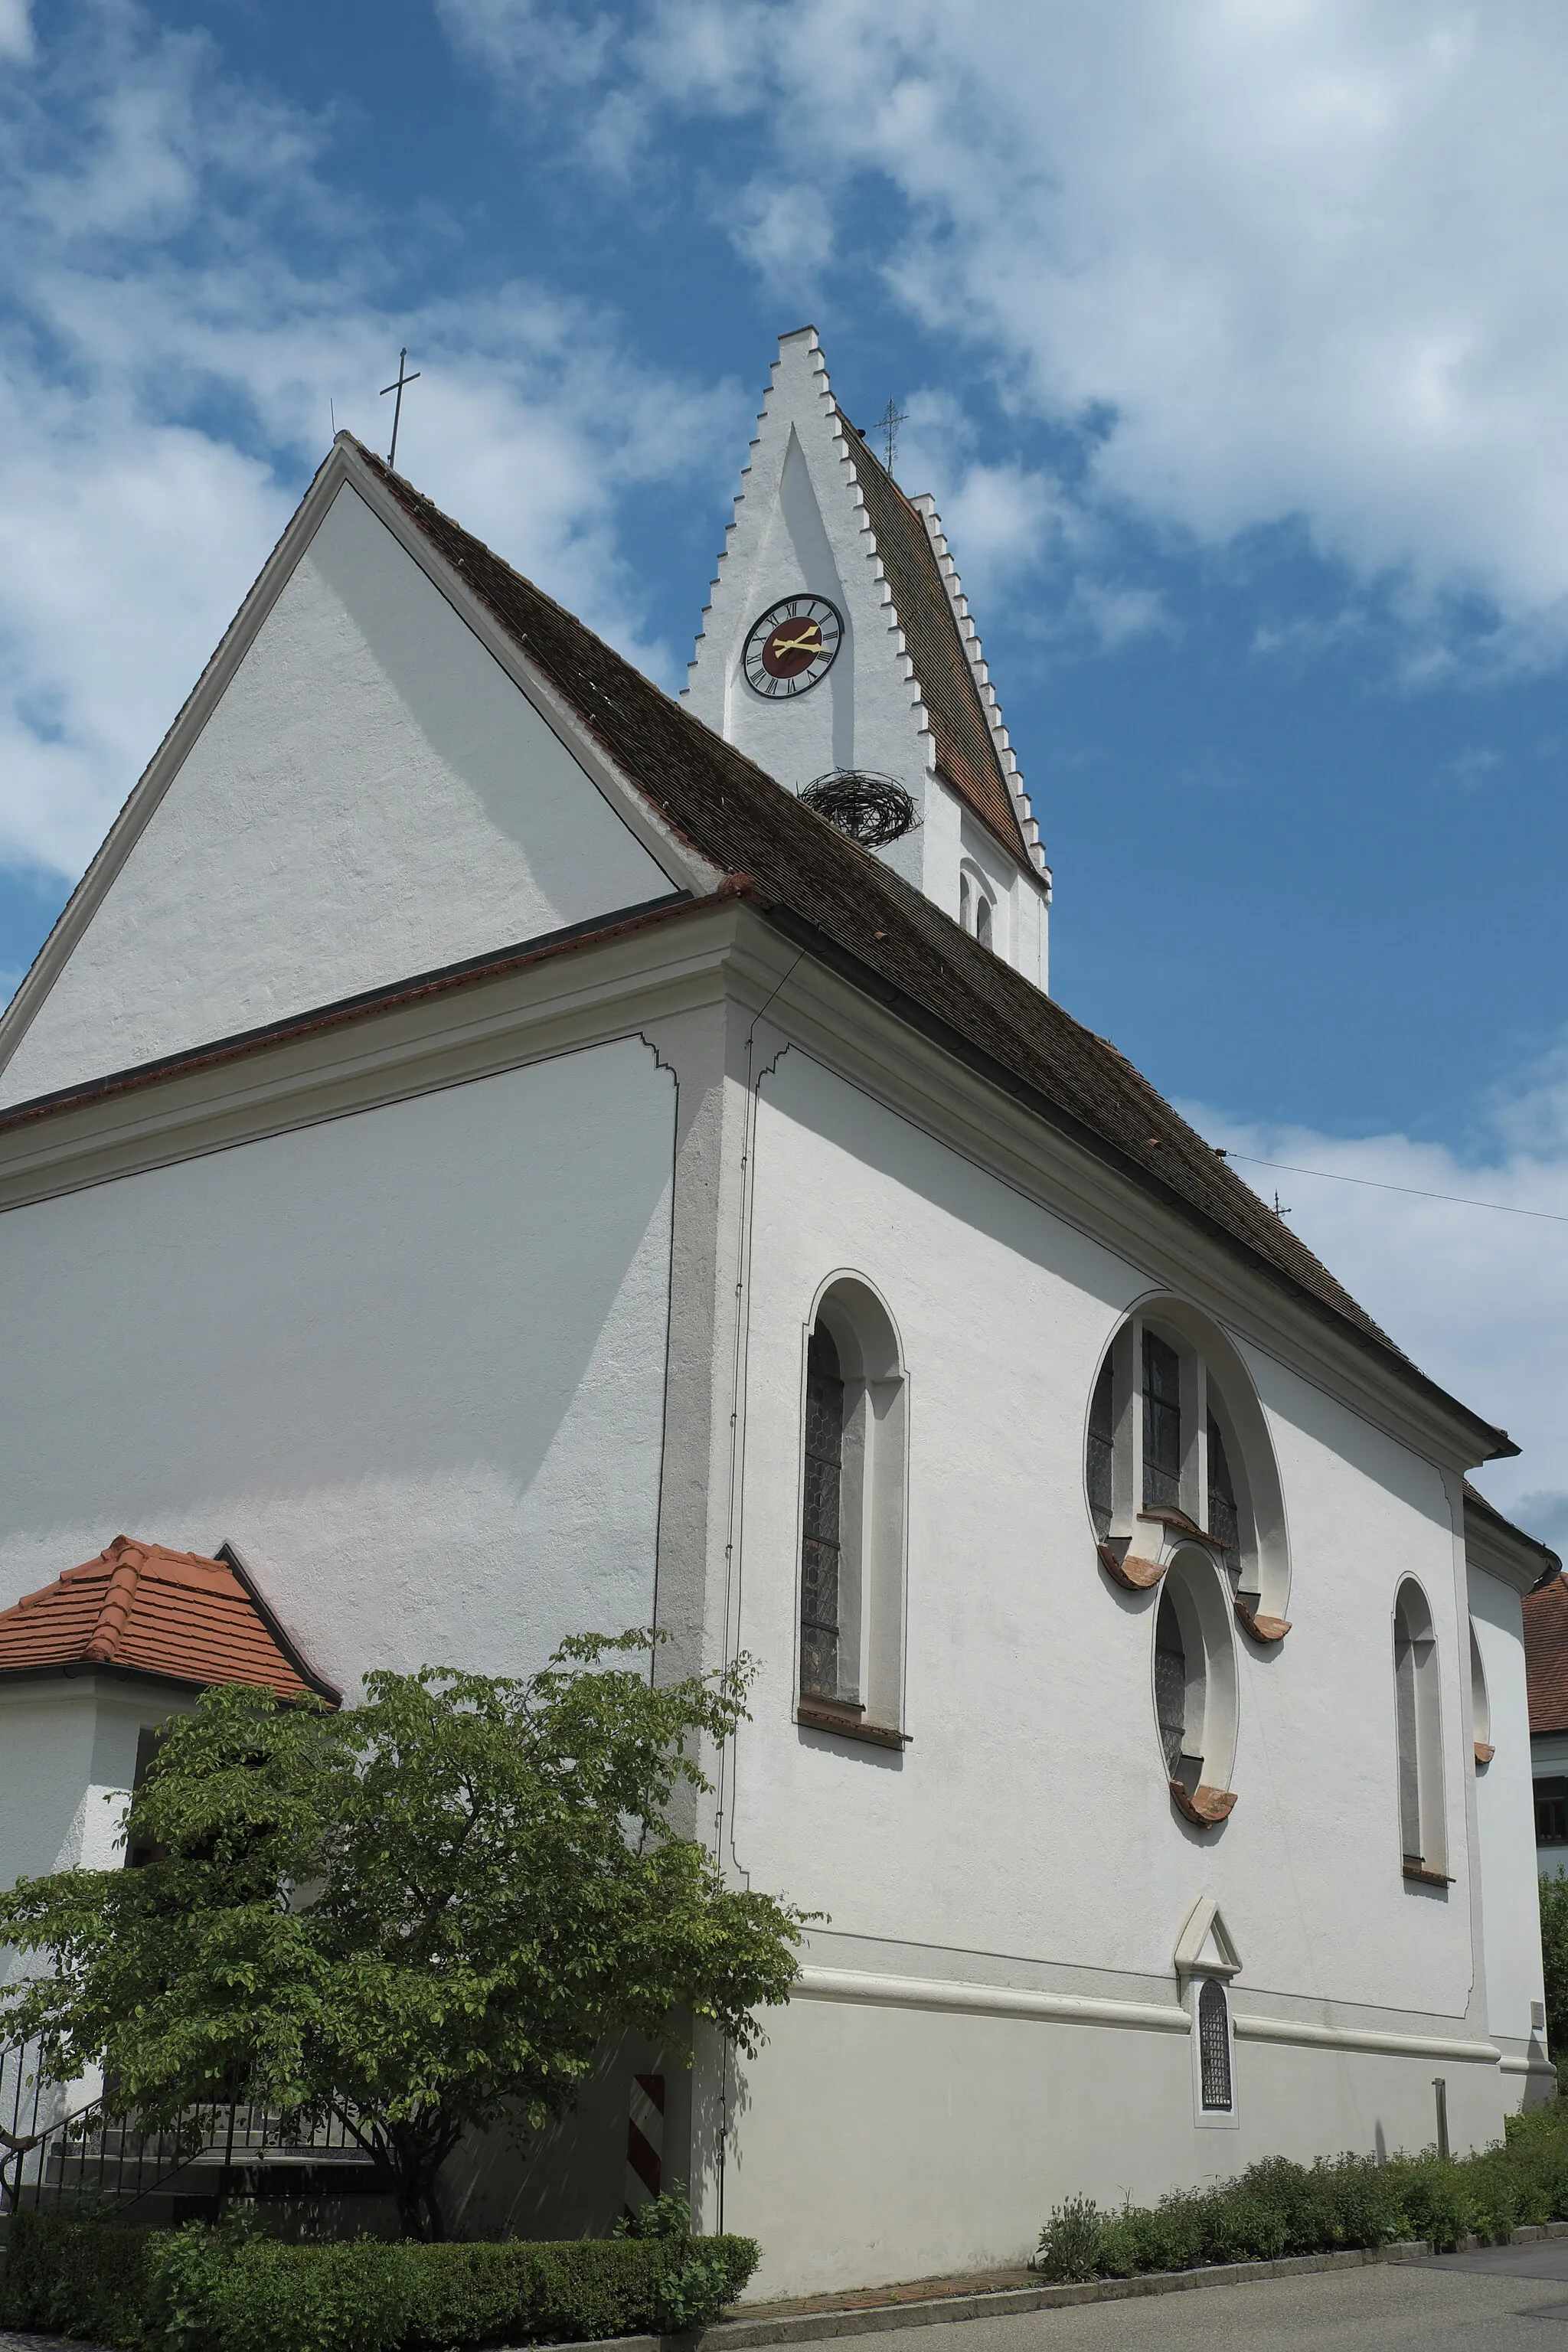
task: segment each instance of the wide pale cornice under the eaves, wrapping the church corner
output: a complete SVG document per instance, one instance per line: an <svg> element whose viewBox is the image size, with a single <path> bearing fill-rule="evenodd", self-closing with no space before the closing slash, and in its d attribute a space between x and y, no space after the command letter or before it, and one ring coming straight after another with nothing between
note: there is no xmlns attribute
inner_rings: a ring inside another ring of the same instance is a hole
<svg viewBox="0 0 1568 2352"><path fill-rule="evenodd" d="M628 934L583 938L520 969L477 974L416 1002L259 1042L202 1068L108 1089L0 1124L0 1209L223 1150L287 1127L463 1084L522 1061L630 1035L729 993L858 1091L912 1120L1051 1216L1100 1242L1161 1291L1190 1298L1246 1345L1448 1468L1476 1458L1462 1409L1363 1345L1328 1310L1272 1277L1244 1244L1030 1103L992 1084L738 898Z"/></svg>

